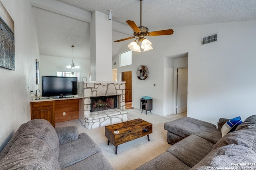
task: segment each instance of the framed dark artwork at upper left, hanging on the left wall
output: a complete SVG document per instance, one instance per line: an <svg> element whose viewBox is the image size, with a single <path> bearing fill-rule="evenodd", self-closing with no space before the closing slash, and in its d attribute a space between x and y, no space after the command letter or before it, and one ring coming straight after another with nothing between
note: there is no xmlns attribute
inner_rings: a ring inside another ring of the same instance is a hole
<svg viewBox="0 0 256 170"><path fill-rule="evenodd" d="M0 1L0 67L15 70L14 21Z"/></svg>

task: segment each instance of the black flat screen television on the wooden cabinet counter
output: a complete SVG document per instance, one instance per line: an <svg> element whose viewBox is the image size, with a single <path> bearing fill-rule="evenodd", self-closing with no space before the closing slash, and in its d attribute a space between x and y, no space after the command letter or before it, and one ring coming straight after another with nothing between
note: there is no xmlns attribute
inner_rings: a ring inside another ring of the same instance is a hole
<svg viewBox="0 0 256 170"><path fill-rule="evenodd" d="M68 96L77 94L77 77L42 76L42 96Z"/></svg>

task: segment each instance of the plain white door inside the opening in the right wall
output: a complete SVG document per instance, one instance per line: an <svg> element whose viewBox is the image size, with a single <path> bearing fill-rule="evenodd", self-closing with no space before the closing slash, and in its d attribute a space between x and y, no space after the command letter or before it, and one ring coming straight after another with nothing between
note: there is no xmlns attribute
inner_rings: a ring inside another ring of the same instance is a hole
<svg viewBox="0 0 256 170"><path fill-rule="evenodd" d="M188 109L188 67L176 68L176 113Z"/></svg>

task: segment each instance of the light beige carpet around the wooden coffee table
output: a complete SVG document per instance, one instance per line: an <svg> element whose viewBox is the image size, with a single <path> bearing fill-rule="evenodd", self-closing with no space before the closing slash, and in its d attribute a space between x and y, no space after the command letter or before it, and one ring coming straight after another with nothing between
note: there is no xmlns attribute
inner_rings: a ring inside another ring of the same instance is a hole
<svg viewBox="0 0 256 170"><path fill-rule="evenodd" d="M166 142L166 130L164 130L164 123L187 116L187 113L172 114L165 117L151 114L145 111L141 113L140 109L129 109L128 119L143 119L153 124L153 133L148 137L144 136L127 143L118 145L117 154L115 154L115 146L105 137L104 127L96 129L86 129L79 119L56 123L55 127L65 127L69 125L76 125L79 133L87 133L92 140L102 149L102 153L106 159L113 166L114 170L134 170L140 165L148 162L156 156L162 154L171 145Z"/></svg>

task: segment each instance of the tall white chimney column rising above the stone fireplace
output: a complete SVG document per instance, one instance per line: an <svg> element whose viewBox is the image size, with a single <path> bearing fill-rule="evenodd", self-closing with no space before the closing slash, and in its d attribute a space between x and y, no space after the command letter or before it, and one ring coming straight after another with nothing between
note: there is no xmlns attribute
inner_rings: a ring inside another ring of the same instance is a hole
<svg viewBox="0 0 256 170"><path fill-rule="evenodd" d="M102 27L104 25L104 27ZM112 20L98 11L90 23L91 80L112 80Z"/></svg>

